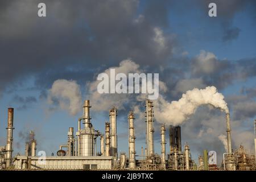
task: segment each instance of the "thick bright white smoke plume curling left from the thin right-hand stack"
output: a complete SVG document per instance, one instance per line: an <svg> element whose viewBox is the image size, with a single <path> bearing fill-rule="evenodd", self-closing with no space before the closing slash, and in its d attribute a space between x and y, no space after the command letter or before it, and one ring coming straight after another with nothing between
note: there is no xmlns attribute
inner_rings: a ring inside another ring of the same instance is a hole
<svg viewBox="0 0 256 182"><path fill-rule="evenodd" d="M195 113L201 105L212 105L229 113L224 96L217 92L216 87L207 86L205 89L188 90L179 101L167 102L159 96L155 104L155 118L158 122L180 125Z"/></svg>

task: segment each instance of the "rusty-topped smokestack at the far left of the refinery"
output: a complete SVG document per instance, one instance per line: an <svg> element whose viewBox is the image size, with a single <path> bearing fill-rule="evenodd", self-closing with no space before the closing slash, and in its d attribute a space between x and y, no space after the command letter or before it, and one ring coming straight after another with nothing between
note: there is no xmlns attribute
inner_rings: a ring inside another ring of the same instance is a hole
<svg viewBox="0 0 256 182"><path fill-rule="evenodd" d="M14 109L8 108L8 121L7 121L7 141L6 141L6 168L11 166L11 160L13 155L13 114Z"/></svg>

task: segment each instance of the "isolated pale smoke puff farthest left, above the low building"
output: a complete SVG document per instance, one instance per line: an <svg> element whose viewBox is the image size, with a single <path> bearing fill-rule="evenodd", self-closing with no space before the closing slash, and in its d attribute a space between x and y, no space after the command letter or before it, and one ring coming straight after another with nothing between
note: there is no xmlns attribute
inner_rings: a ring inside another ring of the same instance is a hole
<svg viewBox="0 0 256 182"><path fill-rule="evenodd" d="M56 80L48 94L48 104L54 102L71 115L76 115L82 106L80 85L73 80Z"/></svg>

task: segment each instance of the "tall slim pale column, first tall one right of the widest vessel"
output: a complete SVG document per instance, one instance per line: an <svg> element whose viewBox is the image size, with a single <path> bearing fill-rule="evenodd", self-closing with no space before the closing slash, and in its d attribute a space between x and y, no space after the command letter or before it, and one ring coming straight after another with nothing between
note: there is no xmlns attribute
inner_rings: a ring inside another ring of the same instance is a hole
<svg viewBox="0 0 256 182"><path fill-rule="evenodd" d="M111 125L110 154L114 156L114 160L117 160L117 109L115 109L115 107L109 111L109 122Z"/></svg>

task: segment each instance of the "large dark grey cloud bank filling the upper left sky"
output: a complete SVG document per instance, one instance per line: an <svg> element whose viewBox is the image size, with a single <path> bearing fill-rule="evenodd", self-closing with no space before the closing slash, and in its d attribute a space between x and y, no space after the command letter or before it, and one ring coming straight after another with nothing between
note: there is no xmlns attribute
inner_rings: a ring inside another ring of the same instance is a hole
<svg viewBox="0 0 256 182"><path fill-rule="evenodd" d="M47 5L46 18L37 16L39 2ZM161 29L168 26L165 3L155 10L157 19L163 22L156 22L144 10L141 16L137 14L136 0L24 0L2 4L0 90L25 76L53 78L64 75L67 69L76 72L72 70L74 65L88 72L90 68L118 63L127 57L154 65L164 63L172 55L173 36ZM153 5L149 3L145 9L152 9ZM161 7L163 12L157 14Z"/></svg>

